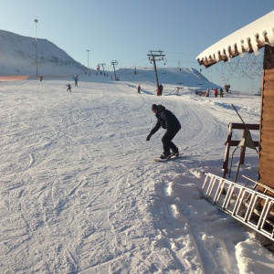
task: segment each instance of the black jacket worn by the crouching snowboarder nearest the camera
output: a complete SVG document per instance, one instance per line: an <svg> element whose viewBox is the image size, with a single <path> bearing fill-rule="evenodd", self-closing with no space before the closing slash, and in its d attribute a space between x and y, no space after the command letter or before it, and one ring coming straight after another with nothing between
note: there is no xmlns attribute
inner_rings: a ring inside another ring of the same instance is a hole
<svg viewBox="0 0 274 274"><path fill-rule="evenodd" d="M166 130L181 129L180 121L178 121L174 113L172 111L165 110L164 107L163 110L158 111L156 118L158 119L158 121L151 131L151 135L157 132L161 127Z"/></svg>

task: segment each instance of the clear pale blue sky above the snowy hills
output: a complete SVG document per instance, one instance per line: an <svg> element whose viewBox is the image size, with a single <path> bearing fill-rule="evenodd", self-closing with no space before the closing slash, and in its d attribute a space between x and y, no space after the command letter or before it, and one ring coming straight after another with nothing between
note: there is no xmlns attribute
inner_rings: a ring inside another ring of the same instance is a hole
<svg viewBox="0 0 274 274"><path fill-rule="evenodd" d="M229 71L224 79L224 65L205 69L195 57L273 9L273 0L0 0L0 29L35 37L37 19L37 38L85 66L90 49L90 68L111 69L112 60L118 68L152 67L147 54L160 49L165 58L157 67L202 68L216 84L247 90L258 89L258 79L244 83Z"/></svg>

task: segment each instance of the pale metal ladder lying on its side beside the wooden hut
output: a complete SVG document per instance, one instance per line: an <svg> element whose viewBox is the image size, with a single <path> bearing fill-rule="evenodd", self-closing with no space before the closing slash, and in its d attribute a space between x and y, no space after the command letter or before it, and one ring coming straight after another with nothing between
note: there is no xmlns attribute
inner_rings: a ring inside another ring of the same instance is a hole
<svg viewBox="0 0 274 274"><path fill-rule="evenodd" d="M245 178L248 183L242 185L215 174L206 174L202 196L238 221L274 240L274 197L270 196L274 195L274 190ZM250 182L253 185L248 185Z"/></svg>

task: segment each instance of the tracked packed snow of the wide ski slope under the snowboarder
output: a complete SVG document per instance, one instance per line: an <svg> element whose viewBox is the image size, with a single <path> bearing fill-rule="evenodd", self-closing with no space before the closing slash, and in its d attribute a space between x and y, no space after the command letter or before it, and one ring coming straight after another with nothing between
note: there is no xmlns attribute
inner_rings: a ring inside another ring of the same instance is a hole
<svg viewBox="0 0 274 274"><path fill-rule="evenodd" d="M258 237L200 197L205 173L222 176L231 104L258 123L260 98L176 96L172 84L156 97L138 77L0 83L1 273L273 273ZM182 124L177 160L153 162L153 103ZM240 174L256 178L255 151Z"/></svg>

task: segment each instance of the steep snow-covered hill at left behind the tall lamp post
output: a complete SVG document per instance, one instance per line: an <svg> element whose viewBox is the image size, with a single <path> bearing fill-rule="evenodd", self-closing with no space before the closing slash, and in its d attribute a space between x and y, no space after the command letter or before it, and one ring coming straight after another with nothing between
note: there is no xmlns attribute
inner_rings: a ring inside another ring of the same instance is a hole
<svg viewBox="0 0 274 274"><path fill-rule="evenodd" d="M71 75L85 67L46 39L22 37L0 30L0 76L3 75Z"/></svg>

